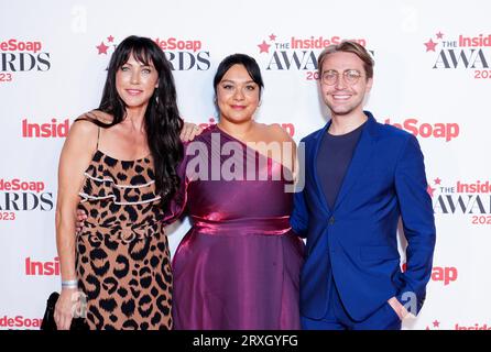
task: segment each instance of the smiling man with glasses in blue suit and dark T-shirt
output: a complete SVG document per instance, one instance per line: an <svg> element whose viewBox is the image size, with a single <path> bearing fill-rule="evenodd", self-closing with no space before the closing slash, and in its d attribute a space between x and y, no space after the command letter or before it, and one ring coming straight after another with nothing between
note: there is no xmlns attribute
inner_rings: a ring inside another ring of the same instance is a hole
<svg viewBox="0 0 491 352"><path fill-rule="evenodd" d="M303 139L305 187L293 229L307 239L301 278L304 329L401 329L425 300L435 248L425 166L412 134L363 111L373 59L342 42L318 58L331 120ZM407 240L401 271L397 223Z"/></svg>

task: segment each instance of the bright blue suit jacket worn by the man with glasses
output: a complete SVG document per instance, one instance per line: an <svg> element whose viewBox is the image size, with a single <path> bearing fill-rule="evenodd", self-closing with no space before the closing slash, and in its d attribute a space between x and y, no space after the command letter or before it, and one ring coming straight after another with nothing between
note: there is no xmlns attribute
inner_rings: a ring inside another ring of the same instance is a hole
<svg viewBox="0 0 491 352"><path fill-rule="evenodd" d="M365 114L369 119L334 209L316 172L317 152L330 122L302 140L305 187L295 194L291 223L307 239L301 310L313 319L326 315L329 270L354 320L365 319L393 296L402 304L415 298L413 314L425 299L436 235L423 154L412 134ZM397 251L400 218L407 240L404 273Z"/></svg>

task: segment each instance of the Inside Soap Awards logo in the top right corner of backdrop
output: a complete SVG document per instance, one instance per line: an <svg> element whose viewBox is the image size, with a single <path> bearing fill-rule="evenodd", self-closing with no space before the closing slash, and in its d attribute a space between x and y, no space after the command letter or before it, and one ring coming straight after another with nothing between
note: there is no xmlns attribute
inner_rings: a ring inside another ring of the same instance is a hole
<svg viewBox="0 0 491 352"><path fill-rule="evenodd" d="M423 43L433 69L465 69L474 79L491 79L491 34L449 35L438 31Z"/></svg>

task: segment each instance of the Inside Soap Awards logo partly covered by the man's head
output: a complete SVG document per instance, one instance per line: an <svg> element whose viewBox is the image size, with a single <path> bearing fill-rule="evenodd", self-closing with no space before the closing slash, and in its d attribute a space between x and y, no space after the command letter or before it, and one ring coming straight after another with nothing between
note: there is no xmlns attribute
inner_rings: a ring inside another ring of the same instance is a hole
<svg viewBox="0 0 491 352"><path fill-rule="evenodd" d="M327 46L346 40L338 35L280 37L272 33L261 38L257 48L266 70L298 70L304 73L305 79L317 80L317 56ZM365 38L351 40L367 46Z"/></svg>

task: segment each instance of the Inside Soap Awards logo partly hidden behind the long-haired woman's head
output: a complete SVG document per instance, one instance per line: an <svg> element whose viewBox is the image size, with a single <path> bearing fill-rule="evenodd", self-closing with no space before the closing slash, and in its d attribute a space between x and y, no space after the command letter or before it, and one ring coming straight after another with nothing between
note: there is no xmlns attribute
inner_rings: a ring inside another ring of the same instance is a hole
<svg viewBox="0 0 491 352"><path fill-rule="evenodd" d="M165 53L173 70L208 70L211 66L209 51L200 40L157 36L153 41ZM97 55L107 57L109 63L118 44L114 36L107 36L95 46Z"/></svg>

